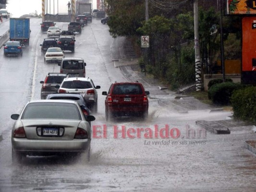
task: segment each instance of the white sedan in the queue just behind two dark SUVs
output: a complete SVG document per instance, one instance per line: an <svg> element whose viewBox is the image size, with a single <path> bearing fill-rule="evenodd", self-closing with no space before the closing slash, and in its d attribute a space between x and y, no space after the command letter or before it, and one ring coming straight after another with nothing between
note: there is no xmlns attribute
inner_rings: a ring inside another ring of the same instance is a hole
<svg viewBox="0 0 256 192"><path fill-rule="evenodd" d="M61 48L48 48L45 53L45 63L49 61L61 62L64 58L64 53Z"/></svg>

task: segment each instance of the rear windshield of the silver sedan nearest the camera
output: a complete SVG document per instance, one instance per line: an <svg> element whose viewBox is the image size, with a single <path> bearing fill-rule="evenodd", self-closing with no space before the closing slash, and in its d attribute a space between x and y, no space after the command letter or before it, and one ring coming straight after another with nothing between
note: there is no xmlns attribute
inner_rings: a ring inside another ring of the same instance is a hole
<svg viewBox="0 0 256 192"><path fill-rule="evenodd" d="M30 103L21 119L68 119L81 120L77 106L73 103Z"/></svg>

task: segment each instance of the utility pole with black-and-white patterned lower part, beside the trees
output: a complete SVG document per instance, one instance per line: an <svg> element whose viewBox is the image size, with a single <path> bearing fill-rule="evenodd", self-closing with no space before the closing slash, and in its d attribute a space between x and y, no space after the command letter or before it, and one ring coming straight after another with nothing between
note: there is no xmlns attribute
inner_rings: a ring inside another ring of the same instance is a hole
<svg viewBox="0 0 256 192"><path fill-rule="evenodd" d="M194 32L195 32L195 90L202 90L201 81L201 58L199 47L199 27L198 27L198 0L194 0Z"/></svg>

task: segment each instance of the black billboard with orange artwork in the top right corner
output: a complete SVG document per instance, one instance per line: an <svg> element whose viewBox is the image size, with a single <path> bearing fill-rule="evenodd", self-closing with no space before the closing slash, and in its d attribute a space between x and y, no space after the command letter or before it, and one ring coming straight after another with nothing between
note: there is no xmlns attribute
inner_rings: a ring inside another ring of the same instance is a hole
<svg viewBox="0 0 256 192"><path fill-rule="evenodd" d="M225 0L227 15L256 14L256 0Z"/></svg>

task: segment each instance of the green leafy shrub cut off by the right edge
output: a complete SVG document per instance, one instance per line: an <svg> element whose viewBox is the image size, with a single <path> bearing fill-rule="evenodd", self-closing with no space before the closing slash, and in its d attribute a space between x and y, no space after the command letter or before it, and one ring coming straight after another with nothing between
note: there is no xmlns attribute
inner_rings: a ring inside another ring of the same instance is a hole
<svg viewBox="0 0 256 192"><path fill-rule="evenodd" d="M235 90L231 96L231 105L235 118L256 122L256 87Z"/></svg>

